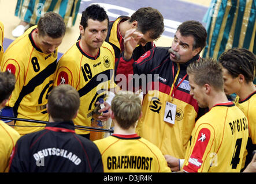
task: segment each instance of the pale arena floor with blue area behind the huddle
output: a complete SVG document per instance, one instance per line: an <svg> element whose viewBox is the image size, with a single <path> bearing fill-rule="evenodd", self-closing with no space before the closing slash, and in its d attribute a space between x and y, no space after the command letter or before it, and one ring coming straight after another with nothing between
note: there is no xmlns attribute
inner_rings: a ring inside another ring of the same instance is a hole
<svg viewBox="0 0 256 184"><path fill-rule="evenodd" d="M3 40L4 50L6 50L9 44L16 39L12 36L12 30L20 22L19 18L14 16L16 2L17 1L14 0L0 0L0 21L2 21L5 26L5 39ZM77 40L77 37L79 36L81 11L86 9L86 7L91 3L99 3L101 6L105 7L110 21L115 20L121 15L129 16L140 7L151 6L158 9L165 18L165 32L162 34L161 38L155 41L155 44L157 46L167 47L170 46L173 35L176 32L176 28L181 24L181 22L186 20L197 20L202 22L203 16L205 15L207 8L210 6L211 1L158 0L157 3L155 3L156 1L149 0L146 1L146 4L144 2L145 1L140 2L136 0L81 0L76 24L75 26L71 26L71 24L68 25L64 40L59 47L58 57L65 53ZM203 23L203 25L205 24Z"/></svg>

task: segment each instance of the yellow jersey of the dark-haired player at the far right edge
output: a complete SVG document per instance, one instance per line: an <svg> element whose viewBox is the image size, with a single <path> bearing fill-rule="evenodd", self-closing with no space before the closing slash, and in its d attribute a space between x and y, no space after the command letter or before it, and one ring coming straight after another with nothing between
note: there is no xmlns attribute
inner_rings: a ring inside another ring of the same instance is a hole
<svg viewBox="0 0 256 184"><path fill-rule="evenodd" d="M243 163L243 166L244 164L247 166L251 162L252 152L256 150L256 91L248 95L245 99L239 99L237 96L235 104L243 111L248 119L249 137Z"/></svg>

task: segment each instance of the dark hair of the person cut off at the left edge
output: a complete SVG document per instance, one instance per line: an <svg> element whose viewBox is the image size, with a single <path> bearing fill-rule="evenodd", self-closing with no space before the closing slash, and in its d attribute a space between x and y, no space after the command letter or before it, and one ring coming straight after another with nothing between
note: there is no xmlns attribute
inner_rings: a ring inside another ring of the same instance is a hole
<svg viewBox="0 0 256 184"><path fill-rule="evenodd" d="M8 72L0 72L0 103L9 99L15 87L15 76Z"/></svg>

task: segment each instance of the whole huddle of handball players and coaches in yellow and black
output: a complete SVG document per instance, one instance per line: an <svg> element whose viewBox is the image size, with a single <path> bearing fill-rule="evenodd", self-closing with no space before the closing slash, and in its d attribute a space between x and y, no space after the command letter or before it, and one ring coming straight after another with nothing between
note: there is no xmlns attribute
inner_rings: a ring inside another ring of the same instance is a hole
<svg viewBox="0 0 256 184"><path fill-rule="evenodd" d="M201 58L207 32L192 20L170 47L155 47L164 18L151 7L110 22L91 5L79 31L60 60L57 13L1 45L0 172L255 172L253 52ZM94 140L84 127L101 98L97 122L110 121L113 134Z"/></svg>

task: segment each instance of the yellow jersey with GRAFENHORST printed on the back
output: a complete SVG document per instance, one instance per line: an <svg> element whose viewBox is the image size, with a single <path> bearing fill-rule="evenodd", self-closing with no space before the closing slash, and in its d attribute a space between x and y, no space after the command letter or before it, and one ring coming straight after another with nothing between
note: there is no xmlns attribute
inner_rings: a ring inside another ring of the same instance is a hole
<svg viewBox="0 0 256 184"><path fill-rule="evenodd" d="M106 173L171 172L159 148L137 134L113 134L94 143L101 152Z"/></svg>

